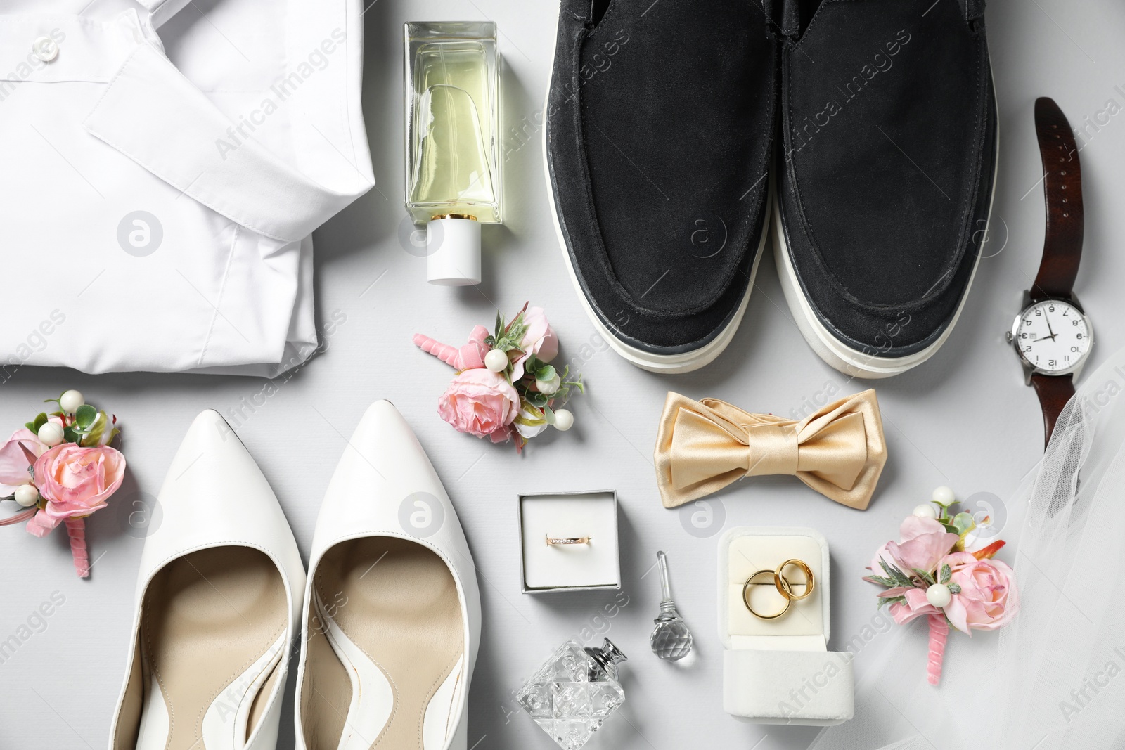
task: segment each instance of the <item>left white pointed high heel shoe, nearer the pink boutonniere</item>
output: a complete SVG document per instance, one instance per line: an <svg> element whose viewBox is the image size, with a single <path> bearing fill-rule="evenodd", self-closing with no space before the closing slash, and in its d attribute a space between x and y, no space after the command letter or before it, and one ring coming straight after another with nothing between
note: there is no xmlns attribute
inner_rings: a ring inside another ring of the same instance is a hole
<svg viewBox="0 0 1125 750"><path fill-rule="evenodd" d="M276 750L305 570L218 413L196 417L145 539L110 750Z"/></svg>

